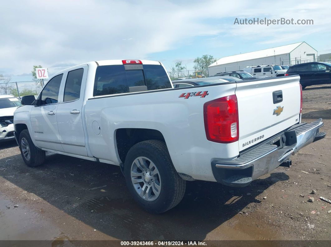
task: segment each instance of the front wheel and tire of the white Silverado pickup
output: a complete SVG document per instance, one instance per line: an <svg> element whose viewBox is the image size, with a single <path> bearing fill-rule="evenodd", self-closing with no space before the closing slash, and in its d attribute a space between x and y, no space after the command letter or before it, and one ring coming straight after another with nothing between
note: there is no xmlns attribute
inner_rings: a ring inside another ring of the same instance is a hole
<svg viewBox="0 0 331 247"><path fill-rule="evenodd" d="M37 148L30 137L28 130L23 130L19 138L19 147L25 164L29 167L40 166L45 161L45 151Z"/></svg>

